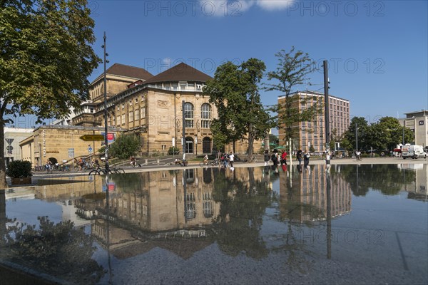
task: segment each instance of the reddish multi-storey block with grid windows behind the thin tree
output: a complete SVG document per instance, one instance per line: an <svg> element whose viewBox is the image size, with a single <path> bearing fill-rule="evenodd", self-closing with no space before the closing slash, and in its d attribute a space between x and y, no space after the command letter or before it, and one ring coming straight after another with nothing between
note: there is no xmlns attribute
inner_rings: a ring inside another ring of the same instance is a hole
<svg viewBox="0 0 428 285"><path fill-rule="evenodd" d="M296 100L292 108L303 110L306 108L302 104L302 100L312 97L312 100L307 101L306 104L312 105L314 103L322 103L324 105L324 94L315 91L297 91L290 94L292 96L300 96L300 100ZM285 102L285 95L278 97L278 103ZM347 131L350 126L350 101L329 95L330 104L330 135L339 138ZM280 145L287 145L285 142L286 133L285 126L280 126L278 132ZM297 128L298 138L296 137L293 142L293 148L301 148L302 150L309 150L311 146L315 148L315 152L325 150L325 108L322 108L322 113L316 116L315 120L310 122L300 122L292 125L292 128Z"/></svg>

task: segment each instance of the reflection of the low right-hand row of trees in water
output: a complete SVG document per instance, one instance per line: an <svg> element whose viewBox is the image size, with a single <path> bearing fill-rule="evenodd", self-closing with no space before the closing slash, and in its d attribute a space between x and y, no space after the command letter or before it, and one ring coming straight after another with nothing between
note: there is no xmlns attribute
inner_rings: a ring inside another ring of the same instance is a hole
<svg viewBox="0 0 428 285"><path fill-rule="evenodd" d="M415 172L399 169L397 165L342 165L340 173L355 196L365 196L370 189L397 195L416 177Z"/></svg>

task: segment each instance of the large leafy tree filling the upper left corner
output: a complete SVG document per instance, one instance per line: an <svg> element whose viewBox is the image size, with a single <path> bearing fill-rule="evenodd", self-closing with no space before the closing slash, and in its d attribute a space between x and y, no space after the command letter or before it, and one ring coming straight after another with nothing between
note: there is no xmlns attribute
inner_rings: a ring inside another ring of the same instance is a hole
<svg viewBox="0 0 428 285"><path fill-rule="evenodd" d="M0 1L0 149L5 115L63 118L88 98L94 21L86 0ZM0 189L7 187L0 152Z"/></svg>

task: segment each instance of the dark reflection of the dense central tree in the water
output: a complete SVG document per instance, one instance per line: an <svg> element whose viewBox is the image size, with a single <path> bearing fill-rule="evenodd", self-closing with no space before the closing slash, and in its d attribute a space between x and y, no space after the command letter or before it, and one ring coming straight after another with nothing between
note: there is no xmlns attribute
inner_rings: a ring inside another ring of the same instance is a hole
<svg viewBox="0 0 428 285"><path fill-rule="evenodd" d="M226 254L245 253L258 259L268 253L260 229L265 209L271 202L271 192L265 181L255 180L253 171L252 167L248 168L248 182L243 182L226 177L224 170L215 170L213 197L221 207L213 230L220 249Z"/></svg>

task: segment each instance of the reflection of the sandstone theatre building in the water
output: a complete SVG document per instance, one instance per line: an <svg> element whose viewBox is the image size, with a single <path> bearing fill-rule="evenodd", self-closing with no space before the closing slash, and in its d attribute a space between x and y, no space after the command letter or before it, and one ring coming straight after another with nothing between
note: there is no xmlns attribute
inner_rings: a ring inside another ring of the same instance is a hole
<svg viewBox="0 0 428 285"><path fill-rule="evenodd" d="M102 191L105 178L93 179L67 185L54 185L56 180L51 181L38 187L36 197L76 207L79 217L90 222L91 234L118 258L162 247L186 259L213 242L207 231L219 216L221 206L214 199L215 187L216 191L223 190L235 181L252 189L252 183L263 180L263 168L223 172L214 167L110 175L109 185L115 186L108 196ZM215 184L215 180L220 183Z"/></svg>

